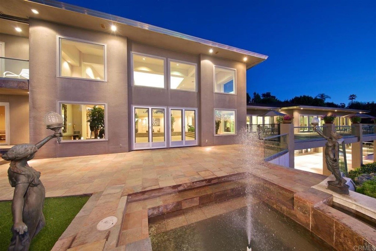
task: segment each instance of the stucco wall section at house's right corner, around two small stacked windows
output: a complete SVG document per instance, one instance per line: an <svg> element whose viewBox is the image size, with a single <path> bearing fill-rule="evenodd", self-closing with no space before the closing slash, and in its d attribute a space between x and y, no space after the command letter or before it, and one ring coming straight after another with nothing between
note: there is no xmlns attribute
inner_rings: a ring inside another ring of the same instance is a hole
<svg viewBox="0 0 376 251"><path fill-rule="evenodd" d="M214 65L236 69L236 95L214 93ZM236 109L237 134L246 125L246 65L242 62L230 61L200 55L200 116L201 144L224 145L237 142L237 135L214 135L214 108Z"/></svg>

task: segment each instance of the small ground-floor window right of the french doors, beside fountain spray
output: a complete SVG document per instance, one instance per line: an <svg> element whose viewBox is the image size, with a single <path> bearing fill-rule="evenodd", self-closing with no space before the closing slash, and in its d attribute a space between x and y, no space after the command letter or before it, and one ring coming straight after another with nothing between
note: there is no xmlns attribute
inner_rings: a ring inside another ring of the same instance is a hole
<svg viewBox="0 0 376 251"><path fill-rule="evenodd" d="M235 110L214 110L215 135L235 134Z"/></svg>

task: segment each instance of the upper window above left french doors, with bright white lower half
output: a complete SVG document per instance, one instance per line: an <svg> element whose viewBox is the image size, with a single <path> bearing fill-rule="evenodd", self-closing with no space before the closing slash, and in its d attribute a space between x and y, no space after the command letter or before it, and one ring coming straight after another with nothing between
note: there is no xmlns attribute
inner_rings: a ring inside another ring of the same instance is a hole
<svg viewBox="0 0 376 251"><path fill-rule="evenodd" d="M133 85L165 88L164 59L132 54Z"/></svg>

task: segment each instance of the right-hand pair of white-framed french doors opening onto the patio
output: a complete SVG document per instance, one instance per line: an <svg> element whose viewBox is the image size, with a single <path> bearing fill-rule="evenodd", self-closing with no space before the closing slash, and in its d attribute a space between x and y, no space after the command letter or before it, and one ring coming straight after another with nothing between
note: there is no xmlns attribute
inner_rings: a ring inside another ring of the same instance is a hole
<svg viewBox="0 0 376 251"><path fill-rule="evenodd" d="M170 108L170 147L197 145L197 109Z"/></svg>

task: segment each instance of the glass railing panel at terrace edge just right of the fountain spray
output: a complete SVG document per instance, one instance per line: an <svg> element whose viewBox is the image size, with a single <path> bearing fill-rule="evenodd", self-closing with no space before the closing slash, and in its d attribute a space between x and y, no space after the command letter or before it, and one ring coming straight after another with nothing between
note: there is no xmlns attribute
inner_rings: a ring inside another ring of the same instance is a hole
<svg viewBox="0 0 376 251"><path fill-rule="evenodd" d="M268 161L277 154L288 152L288 133L263 139L264 160Z"/></svg>

